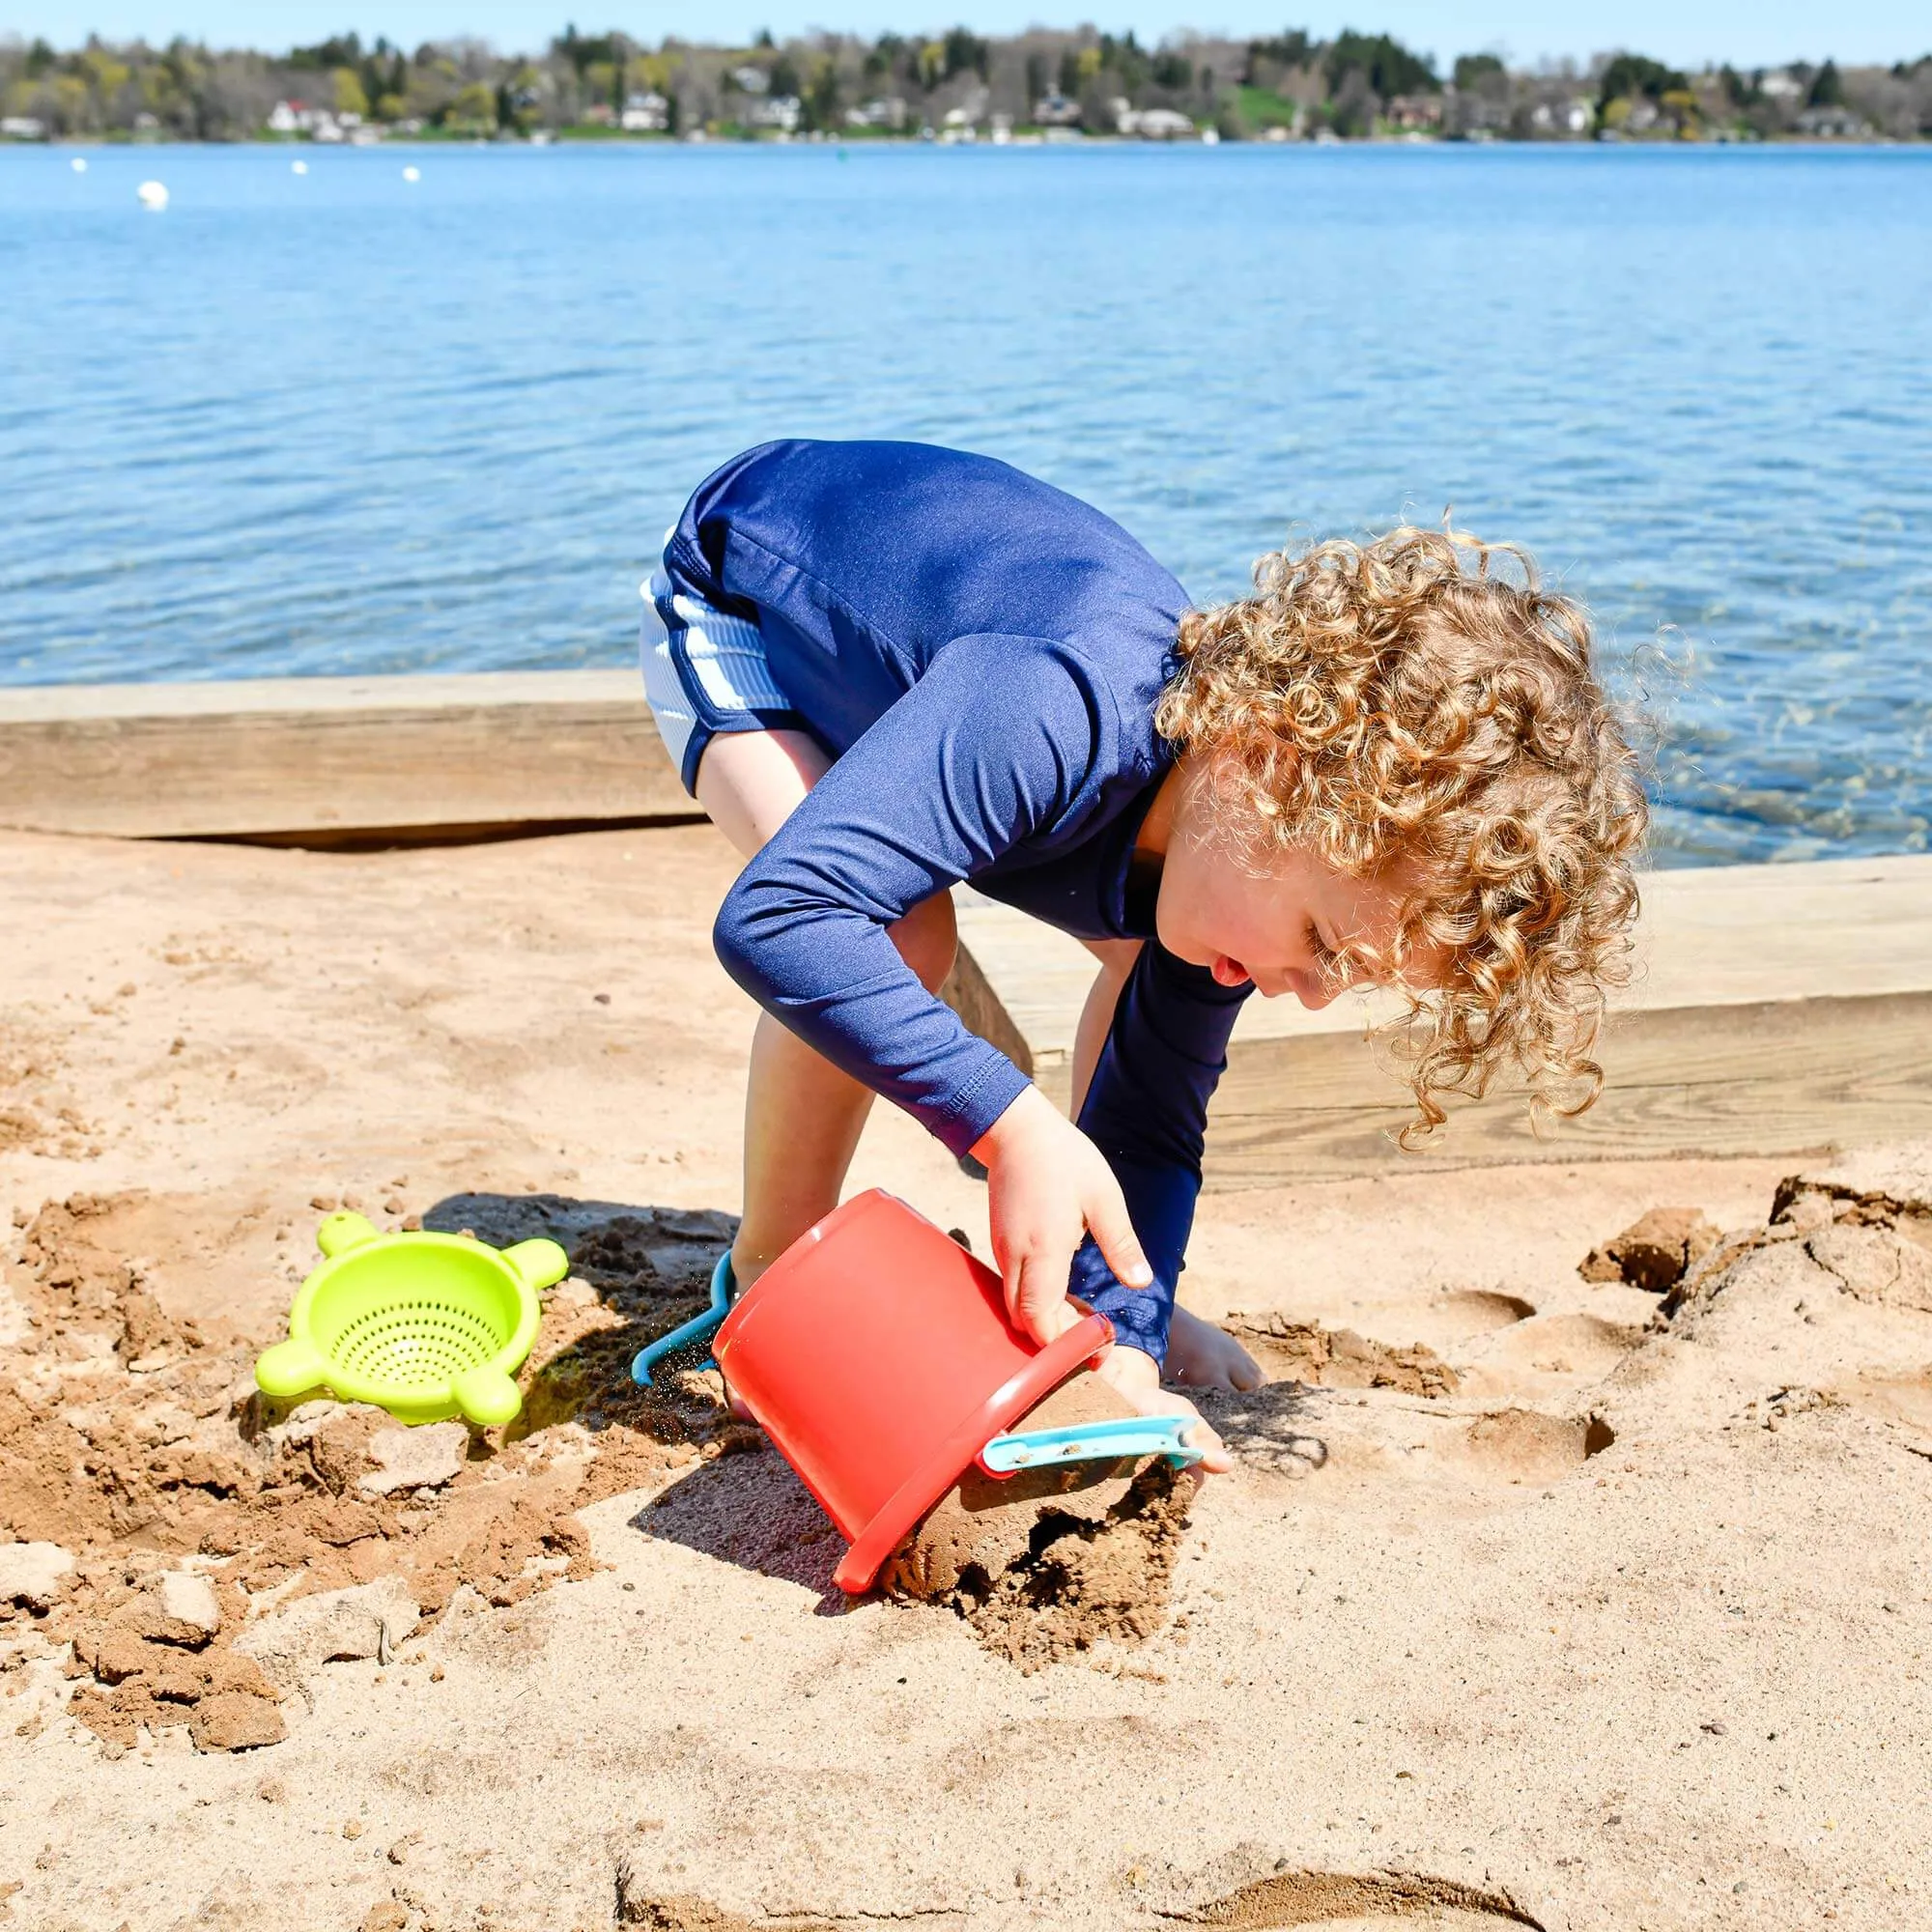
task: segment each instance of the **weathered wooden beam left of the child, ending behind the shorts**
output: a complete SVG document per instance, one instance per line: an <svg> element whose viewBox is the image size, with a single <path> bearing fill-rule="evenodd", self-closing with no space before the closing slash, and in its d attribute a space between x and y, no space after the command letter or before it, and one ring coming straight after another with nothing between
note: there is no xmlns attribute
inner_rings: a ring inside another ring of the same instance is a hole
<svg viewBox="0 0 1932 1932"><path fill-rule="evenodd" d="M0 825L124 838L690 817L634 672L0 692Z"/></svg>

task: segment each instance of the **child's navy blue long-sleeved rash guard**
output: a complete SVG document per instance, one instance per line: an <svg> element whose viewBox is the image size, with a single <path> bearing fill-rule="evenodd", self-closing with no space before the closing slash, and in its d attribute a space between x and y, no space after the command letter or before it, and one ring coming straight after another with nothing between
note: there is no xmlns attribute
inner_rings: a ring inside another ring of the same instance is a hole
<svg viewBox="0 0 1932 1932"><path fill-rule="evenodd" d="M1128 895L1173 748L1153 703L1186 593L1119 524L1007 464L918 442L769 442L711 475L672 589L757 624L835 757L717 918L724 970L964 1153L1028 1086L920 985L887 927L964 879L1082 939L1146 939L1080 1111L1155 1287L1092 1238L1072 1293L1167 1352L1208 1099L1250 987L1153 939Z"/></svg>

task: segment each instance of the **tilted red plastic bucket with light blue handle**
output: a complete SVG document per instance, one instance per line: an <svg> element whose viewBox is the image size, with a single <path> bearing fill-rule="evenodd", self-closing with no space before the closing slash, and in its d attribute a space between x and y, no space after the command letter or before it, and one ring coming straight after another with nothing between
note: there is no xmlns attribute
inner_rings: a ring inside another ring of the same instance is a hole
<svg viewBox="0 0 1932 1932"><path fill-rule="evenodd" d="M771 1264L713 1354L852 1546L833 1580L858 1596L974 1461L1010 1474L1094 1457L1198 1459L1180 1439L1190 1418L1005 1434L1111 1341L1107 1318L1090 1314L1036 1349L1009 1323L999 1275L873 1188Z"/></svg>

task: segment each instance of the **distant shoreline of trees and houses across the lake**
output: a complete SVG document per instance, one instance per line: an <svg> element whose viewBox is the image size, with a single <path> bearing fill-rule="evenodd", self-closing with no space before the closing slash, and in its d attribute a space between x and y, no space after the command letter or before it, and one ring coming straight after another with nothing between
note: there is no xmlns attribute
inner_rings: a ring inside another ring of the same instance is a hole
<svg viewBox="0 0 1932 1932"><path fill-rule="evenodd" d="M750 46L568 27L541 54L336 35L288 54L0 41L12 139L684 137L1926 139L1932 54L1679 71L1644 54L1437 66L1391 35L1229 41L1032 29L813 33Z"/></svg>

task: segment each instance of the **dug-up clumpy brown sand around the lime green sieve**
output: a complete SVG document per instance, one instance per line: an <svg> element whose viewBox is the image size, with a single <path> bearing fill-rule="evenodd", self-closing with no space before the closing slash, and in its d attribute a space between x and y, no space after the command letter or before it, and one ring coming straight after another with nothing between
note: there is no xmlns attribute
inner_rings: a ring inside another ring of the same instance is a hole
<svg viewBox="0 0 1932 1932"><path fill-rule="evenodd" d="M721 1215L444 1204L442 1219L485 1223L485 1238L576 1235L583 1269L545 1304L524 1414L471 1434L269 1405L259 1339L164 1312L135 1258L143 1208L81 1194L31 1217L25 1335L0 1378L0 1532L75 1557L39 1602L0 1605L0 1634L71 1642L87 1679L71 1714L114 1745L172 1723L209 1750L276 1743L276 1698L307 1669L386 1662L396 1633L460 1588L500 1607L587 1575L576 1513L721 1453L734 1428L717 1405L628 1374L639 1341L701 1298ZM377 1584L400 1607L359 1607Z"/></svg>

